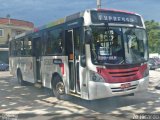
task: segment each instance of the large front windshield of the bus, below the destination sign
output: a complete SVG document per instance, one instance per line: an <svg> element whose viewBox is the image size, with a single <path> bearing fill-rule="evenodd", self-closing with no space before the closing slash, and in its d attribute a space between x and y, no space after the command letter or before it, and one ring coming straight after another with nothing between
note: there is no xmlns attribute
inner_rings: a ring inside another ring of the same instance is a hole
<svg viewBox="0 0 160 120"><path fill-rule="evenodd" d="M148 59L144 29L91 27L91 58L94 64L136 64Z"/></svg>

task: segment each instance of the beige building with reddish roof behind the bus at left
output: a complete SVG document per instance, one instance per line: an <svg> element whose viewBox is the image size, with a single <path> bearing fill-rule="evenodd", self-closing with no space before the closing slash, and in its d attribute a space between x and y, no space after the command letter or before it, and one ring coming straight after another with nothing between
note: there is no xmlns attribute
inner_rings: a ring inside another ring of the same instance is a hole
<svg viewBox="0 0 160 120"><path fill-rule="evenodd" d="M0 18L0 61L8 63L9 39L33 28L34 24L28 21Z"/></svg>

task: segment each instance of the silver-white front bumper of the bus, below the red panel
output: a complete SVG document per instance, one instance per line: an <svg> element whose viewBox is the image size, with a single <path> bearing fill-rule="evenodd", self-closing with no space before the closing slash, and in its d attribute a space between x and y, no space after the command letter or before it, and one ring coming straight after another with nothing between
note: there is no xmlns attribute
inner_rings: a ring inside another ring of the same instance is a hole
<svg viewBox="0 0 160 120"><path fill-rule="evenodd" d="M122 84L130 84L127 88L121 88ZM149 77L126 83L101 83L89 81L89 100L107 98L112 96L128 95L144 91L148 88Z"/></svg>

